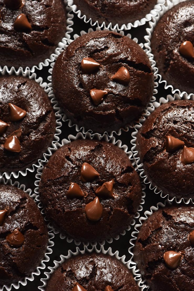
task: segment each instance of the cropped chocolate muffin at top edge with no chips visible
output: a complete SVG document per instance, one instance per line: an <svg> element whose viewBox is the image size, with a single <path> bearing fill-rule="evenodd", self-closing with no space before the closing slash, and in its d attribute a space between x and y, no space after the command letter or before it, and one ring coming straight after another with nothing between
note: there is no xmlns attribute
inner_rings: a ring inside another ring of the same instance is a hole
<svg viewBox="0 0 194 291"><path fill-rule="evenodd" d="M73 4L81 10L82 14L99 24L105 22L112 25L133 23L140 20L154 9L157 0L74 0Z"/></svg>

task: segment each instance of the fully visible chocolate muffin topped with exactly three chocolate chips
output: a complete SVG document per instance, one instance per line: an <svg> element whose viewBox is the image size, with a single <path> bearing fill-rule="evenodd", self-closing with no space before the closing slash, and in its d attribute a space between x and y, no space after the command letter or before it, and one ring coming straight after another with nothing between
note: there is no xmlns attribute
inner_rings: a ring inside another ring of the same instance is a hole
<svg viewBox="0 0 194 291"><path fill-rule="evenodd" d="M154 78L136 42L115 32L94 31L71 42L57 58L52 84L68 118L103 133L138 118L152 97Z"/></svg>

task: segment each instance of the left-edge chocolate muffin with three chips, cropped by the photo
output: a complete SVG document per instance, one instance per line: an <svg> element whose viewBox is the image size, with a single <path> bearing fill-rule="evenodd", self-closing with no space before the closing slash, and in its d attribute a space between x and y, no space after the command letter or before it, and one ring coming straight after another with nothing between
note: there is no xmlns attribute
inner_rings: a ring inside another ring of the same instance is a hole
<svg viewBox="0 0 194 291"><path fill-rule="evenodd" d="M42 156L55 133L45 91L22 76L0 77L0 172L19 171Z"/></svg>

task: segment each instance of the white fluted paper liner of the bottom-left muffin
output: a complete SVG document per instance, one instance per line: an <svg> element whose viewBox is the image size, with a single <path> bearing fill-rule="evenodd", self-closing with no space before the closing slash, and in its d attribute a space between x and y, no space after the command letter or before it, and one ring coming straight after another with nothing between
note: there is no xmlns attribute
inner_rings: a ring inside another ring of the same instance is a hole
<svg viewBox="0 0 194 291"><path fill-rule="evenodd" d="M32 190L31 189L26 189L26 186L24 184L19 184L19 182L15 181L14 183L12 182L11 179L9 180L5 180L4 178L0 179L0 184L3 185L12 185L17 187L18 189L23 190L26 194L29 194L29 196L31 198L33 198L33 200L35 200L36 198L36 194L32 194ZM49 262L50 258L49 255L52 253L52 247L54 246L54 242L52 241L52 239L54 238L54 234L53 234L53 228L51 226L47 226L48 228L48 245L47 245L47 249L45 252L45 256L42 259L42 261L40 262L40 265L38 267L36 267L35 271L31 273L30 276L26 276L24 279L22 279L21 281L18 281L16 283L12 283L10 285L3 285L0 286L0 291L3 290L7 290L10 291L12 288L18 289L20 284L23 286L26 286L27 284L27 280L28 281L33 281L34 280L34 276L38 276L40 275L40 269L45 269L45 262ZM5 289L4 289L5 288Z"/></svg>

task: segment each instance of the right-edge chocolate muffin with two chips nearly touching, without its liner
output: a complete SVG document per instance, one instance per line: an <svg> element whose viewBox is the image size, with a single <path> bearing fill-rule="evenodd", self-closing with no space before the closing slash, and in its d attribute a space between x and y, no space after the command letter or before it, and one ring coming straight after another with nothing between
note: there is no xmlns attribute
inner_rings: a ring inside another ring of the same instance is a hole
<svg viewBox="0 0 194 291"><path fill-rule="evenodd" d="M194 101L162 104L145 120L136 149L148 180L170 197L194 198Z"/></svg>

